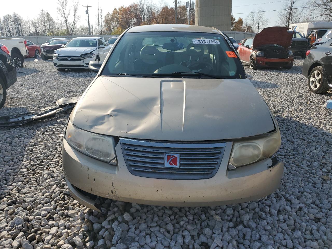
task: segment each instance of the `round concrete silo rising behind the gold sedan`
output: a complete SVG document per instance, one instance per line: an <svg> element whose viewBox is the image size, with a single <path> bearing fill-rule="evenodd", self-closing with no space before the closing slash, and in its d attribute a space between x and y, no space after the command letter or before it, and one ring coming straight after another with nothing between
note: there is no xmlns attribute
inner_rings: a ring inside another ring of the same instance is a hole
<svg viewBox="0 0 332 249"><path fill-rule="evenodd" d="M232 0L196 0L195 24L229 31Z"/></svg>

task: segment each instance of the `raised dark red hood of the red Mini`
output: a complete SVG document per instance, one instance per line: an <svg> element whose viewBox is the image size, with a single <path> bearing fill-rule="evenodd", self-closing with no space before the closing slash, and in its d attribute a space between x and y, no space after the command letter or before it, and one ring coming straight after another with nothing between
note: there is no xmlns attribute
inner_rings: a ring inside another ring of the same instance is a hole
<svg viewBox="0 0 332 249"><path fill-rule="evenodd" d="M253 41L253 49L266 44L277 44L285 49L291 44L294 31L286 27L269 27L259 32Z"/></svg>

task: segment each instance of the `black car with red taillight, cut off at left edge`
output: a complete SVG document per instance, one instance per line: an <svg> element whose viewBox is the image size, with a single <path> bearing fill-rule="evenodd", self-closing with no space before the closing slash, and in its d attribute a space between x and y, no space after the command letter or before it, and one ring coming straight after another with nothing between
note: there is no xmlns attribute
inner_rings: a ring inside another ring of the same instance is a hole
<svg viewBox="0 0 332 249"><path fill-rule="evenodd" d="M7 89L16 82L16 67L8 48L0 43L0 108L6 102Z"/></svg>

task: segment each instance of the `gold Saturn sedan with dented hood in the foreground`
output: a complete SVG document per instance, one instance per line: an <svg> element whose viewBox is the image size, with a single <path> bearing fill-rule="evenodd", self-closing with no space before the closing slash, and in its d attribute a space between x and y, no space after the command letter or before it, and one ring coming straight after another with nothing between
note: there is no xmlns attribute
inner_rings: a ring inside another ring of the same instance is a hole
<svg viewBox="0 0 332 249"><path fill-rule="evenodd" d="M89 68L98 74L70 115L62 150L81 204L100 210L94 197L102 196L215 206L279 187L278 124L219 30L132 27Z"/></svg>

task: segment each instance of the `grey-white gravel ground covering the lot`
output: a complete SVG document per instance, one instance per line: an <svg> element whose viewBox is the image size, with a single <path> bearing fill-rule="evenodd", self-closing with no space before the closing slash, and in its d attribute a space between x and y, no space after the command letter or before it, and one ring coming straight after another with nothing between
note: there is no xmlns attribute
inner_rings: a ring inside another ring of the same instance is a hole
<svg viewBox="0 0 332 249"><path fill-rule="evenodd" d="M101 200L97 213L73 200L64 181L61 143L70 112L0 128L1 248L332 248L331 94L316 95L291 70L247 76L279 122L285 174L276 193L220 207L159 207ZM58 72L27 59L0 116L40 110L79 96L91 72Z"/></svg>

